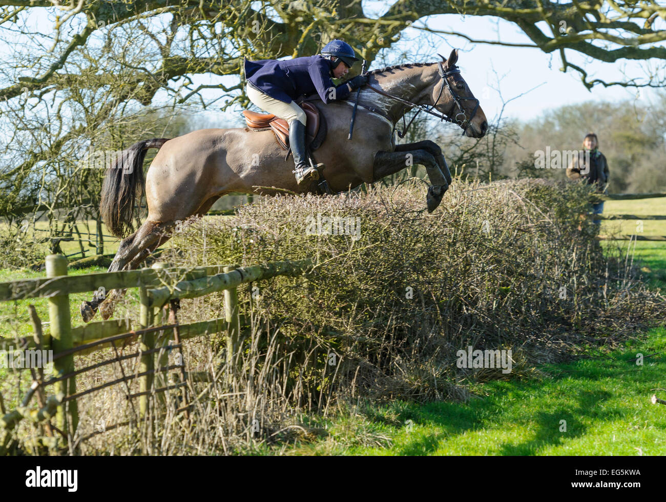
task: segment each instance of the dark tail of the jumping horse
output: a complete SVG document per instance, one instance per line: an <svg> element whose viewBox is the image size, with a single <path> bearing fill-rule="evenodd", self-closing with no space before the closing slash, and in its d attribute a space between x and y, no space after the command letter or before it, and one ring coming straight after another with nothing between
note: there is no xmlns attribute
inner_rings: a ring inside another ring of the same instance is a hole
<svg viewBox="0 0 666 502"><path fill-rule="evenodd" d="M161 148L170 138L143 140L123 150L107 170L102 186L99 214L107 229L116 237L127 237L134 231L132 216L134 203L145 186L143 160L149 148Z"/></svg>

